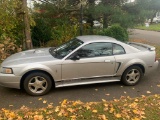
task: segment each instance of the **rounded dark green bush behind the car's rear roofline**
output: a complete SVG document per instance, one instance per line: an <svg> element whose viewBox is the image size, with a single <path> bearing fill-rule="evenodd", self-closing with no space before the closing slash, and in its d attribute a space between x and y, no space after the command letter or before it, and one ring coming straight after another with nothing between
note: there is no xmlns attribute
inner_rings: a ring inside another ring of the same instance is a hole
<svg viewBox="0 0 160 120"><path fill-rule="evenodd" d="M120 25L112 25L111 27L99 32L99 35L110 36L122 42L128 41L127 30L122 28Z"/></svg>

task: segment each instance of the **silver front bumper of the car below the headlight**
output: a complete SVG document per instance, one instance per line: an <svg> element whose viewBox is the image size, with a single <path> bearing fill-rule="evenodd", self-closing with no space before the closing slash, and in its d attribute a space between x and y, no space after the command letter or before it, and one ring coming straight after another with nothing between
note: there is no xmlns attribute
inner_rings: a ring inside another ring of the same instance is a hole
<svg viewBox="0 0 160 120"><path fill-rule="evenodd" d="M9 88L20 89L21 76L15 76L14 74L0 73L0 85Z"/></svg>

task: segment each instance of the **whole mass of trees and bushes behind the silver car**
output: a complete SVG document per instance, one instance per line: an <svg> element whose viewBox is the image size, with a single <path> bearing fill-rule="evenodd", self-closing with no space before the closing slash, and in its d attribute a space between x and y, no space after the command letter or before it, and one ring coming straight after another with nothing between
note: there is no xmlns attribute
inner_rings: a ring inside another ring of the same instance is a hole
<svg viewBox="0 0 160 120"><path fill-rule="evenodd" d="M20 51L24 46L24 14L29 15L35 48L58 46L80 35L81 27L83 35L103 33L127 41L128 28L144 24L146 19L153 19L160 11L159 0L127 1L102 0L97 4L96 0L34 0L33 7L28 8L29 12L25 13L22 0L0 0L0 59ZM86 23L81 24L81 19ZM103 27L95 27L94 20L99 21ZM115 27L115 24L119 27Z"/></svg>

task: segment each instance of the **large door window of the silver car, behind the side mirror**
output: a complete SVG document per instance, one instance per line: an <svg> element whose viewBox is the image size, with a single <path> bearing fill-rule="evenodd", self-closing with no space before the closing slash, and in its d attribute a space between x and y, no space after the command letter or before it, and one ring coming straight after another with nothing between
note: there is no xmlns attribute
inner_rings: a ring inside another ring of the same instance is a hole
<svg viewBox="0 0 160 120"><path fill-rule="evenodd" d="M111 43L91 43L77 51L80 58L110 56L112 55Z"/></svg>

